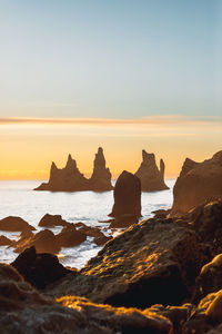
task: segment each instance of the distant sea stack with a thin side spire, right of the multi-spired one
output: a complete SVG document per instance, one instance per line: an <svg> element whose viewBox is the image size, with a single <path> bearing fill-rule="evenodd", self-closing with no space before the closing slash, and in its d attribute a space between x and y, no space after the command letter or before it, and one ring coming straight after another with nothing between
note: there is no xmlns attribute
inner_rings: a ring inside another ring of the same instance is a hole
<svg viewBox="0 0 222 334"><path fill-rule="evenodd" d="M159 191L169 189L164 183L165 165L163 159L160 160L160 170L155 163L154 154L148 154L142 150L142 163L134 174L141 180L142 191Z"/></svg>

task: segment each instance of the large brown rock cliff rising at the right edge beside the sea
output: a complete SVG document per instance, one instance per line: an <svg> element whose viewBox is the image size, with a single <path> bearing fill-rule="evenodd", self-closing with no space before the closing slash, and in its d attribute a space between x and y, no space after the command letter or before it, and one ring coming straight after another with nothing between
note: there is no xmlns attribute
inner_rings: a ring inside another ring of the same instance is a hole
<svg viewBox="0 0 222 334"><path fill-rule="evenodd" d="M222 151L195 163L185 159L173 188L171 215L181 215L199 205L222 199Z"/></svg>

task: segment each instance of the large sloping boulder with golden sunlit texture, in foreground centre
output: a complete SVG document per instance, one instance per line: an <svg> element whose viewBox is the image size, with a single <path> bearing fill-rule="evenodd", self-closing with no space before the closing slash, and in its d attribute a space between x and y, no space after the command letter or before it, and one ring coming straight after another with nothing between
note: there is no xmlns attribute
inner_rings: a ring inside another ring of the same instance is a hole
<svg viewBox="0 0 222 334"><path fill-rule="evenodd" d="M107 243L48 294L65 292L114 306L172 305L190 295L202 264L201 246L188 225L148 219Z"/></svg>

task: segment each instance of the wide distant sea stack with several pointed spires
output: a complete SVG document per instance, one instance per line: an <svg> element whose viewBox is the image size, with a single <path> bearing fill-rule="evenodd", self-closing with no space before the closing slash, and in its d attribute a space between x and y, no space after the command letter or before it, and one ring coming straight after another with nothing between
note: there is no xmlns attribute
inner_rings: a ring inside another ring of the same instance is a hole
<svg viewBox="0 0 222 334"><path fill-rule="evenodd" d="M111 173L105 168L103 150L100 147L94 159L94 169L90 179L85 178L77 167L71 155L68 157L67 166L59 169L54 163L51 165L49 183L41 184L34 190L50 191L107 191L111 190Z"/></svg>

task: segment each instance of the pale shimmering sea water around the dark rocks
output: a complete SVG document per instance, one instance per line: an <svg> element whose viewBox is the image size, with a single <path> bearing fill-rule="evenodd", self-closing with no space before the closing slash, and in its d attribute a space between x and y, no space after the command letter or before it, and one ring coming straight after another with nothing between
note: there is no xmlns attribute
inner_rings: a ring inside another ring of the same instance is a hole
<svg viewBox="0 0 222 334"><path fill-rule="evenodd" d="M38 223L46 214L61 215L70 223L82 222L88 226L97 226L105 235L118 235L121 229L109 229L108 223L99 223L109 219L113 205L113 191L94 193L51 193L34 191L43 180L0 180L0 219L7 216L19 216L37 228ZM172 205L172 189L175 179L167 179L170 189L153 193L142 193L142 218L150 218L158 209L169 209ZM114 184L114 180L113 180ZM50 228L54 234L60 233L62 227ZM11 239L18 239L20 233L0 230ZM58 254L60 263L64 266L80 269L102 246L97 246L92 237L77 247L62 248ZM11 263L18 256L12 247L0 246L0 262Z"/></svg>

